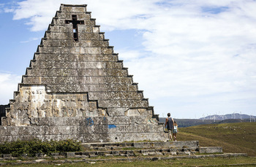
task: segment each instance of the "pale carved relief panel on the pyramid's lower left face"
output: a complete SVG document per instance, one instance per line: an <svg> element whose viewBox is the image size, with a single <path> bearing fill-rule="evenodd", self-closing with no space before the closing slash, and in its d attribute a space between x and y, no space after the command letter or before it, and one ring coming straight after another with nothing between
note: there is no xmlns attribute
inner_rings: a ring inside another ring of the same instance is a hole
<svg viewBox="0 0 256 167"><path fill-rule="evenodd" d="M20 93L7 113L8 125L31 125L32 117L108 116L98 109L97 101L88 101L87 93L47 93L44 85L20 87Z"/></svg>

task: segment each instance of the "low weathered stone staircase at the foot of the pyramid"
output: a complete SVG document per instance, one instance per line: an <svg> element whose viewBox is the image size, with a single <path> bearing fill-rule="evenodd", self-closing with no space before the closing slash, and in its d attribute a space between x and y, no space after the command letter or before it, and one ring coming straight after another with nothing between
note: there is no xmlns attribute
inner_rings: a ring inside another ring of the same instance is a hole
<svg viewBox="0 0 256 167"><path fill-rule="evenodd" d="M18 163L75 163L99 160L166 160L176 158L207 158L247 156L244 153L223 153L222 147L200 147L198 141L148 141L124 143L85 143L83 152L55 152L51 156L23 155ZM1 155L1 160L19 160ZM15 163L16 164L16 163ZM4 163L0 163L0 166Z"/></svg>

